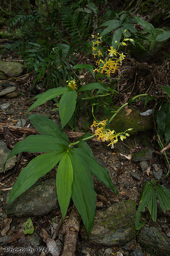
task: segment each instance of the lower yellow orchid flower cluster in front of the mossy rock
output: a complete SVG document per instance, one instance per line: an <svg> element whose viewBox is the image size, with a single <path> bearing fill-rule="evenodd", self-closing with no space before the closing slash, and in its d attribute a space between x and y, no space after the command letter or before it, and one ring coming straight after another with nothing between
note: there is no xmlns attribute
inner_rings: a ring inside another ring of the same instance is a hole
<svg viewBox="0 0 170 256"><path fill-rule="evenodd" d="M106 128L108 120L103 121L94 121L93 125L91 127L97 127L94 131L94 134L98 137L97 140L102 141L110 141L111 143L108 144L108 146L111 145L111 148L114 148L114 144L118 142L118 137L123 141L126 139L126 137L129 137L130 135L127 133L127 131L131 131L132 129L128 129L125 132L121 132L116 134L116 131L111 131ZM99 127L100 126L100 127Z"/></svg>

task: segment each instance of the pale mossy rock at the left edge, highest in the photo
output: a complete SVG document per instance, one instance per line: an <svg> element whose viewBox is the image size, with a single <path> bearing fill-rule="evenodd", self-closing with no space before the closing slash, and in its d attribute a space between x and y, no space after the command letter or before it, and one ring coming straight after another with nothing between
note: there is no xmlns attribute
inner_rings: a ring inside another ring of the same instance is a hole
<svg viewBox="0 0 170 256"><path fill-rule="evenodd" d="M23 73L23 64L16 61L0 61L0 71L10 77L20 76Z"/></svg>

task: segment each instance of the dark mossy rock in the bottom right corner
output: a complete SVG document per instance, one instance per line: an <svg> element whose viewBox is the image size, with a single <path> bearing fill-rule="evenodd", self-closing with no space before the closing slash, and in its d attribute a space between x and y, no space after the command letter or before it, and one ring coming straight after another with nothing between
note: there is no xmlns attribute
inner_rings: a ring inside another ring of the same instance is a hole
<svg viewBox="0 0 170 256"><path fill-rule="evenodd" d="M142 227L138 241L148 253L154 256L170 255L170 239L156 227Z"/></svg>

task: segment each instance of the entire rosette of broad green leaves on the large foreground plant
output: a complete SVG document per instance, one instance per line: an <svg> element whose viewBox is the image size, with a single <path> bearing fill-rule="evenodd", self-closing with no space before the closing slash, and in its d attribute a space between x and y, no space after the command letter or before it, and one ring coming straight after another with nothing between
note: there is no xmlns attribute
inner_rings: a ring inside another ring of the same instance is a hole
<svg viewBox="0 0 170 256"><path fill-rule="evenodd" d="M90 235L96 209L96 193L91 174L96 175L99 180L117 194L117 190L108 175L108 170L100 166L94 159L94 155L85 141L79 140L77 143L69 143L65 132L45 116L34 114L30 116L30 120L42 135L29 136L26 140L17 143L8 155L7 160L23 151L49 152L31 160L20 172L11 190L8 204L59 163L56 186L63 219L70 198L72 198L82 217L88 235ZM49 132L52 136L48 135ZM78 143L79 148L72 148L72 145Z"/></svg>

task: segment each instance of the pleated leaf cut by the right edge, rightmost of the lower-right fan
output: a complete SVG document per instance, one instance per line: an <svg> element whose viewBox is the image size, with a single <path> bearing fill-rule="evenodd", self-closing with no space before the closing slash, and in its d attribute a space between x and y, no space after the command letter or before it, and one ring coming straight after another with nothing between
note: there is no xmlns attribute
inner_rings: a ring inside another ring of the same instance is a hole
<svg viewBox="0 0 170 256"><path fill-rule="evenodd" d="M170 210L170 190L156 184L156 194L162 211Z"/></svg>

